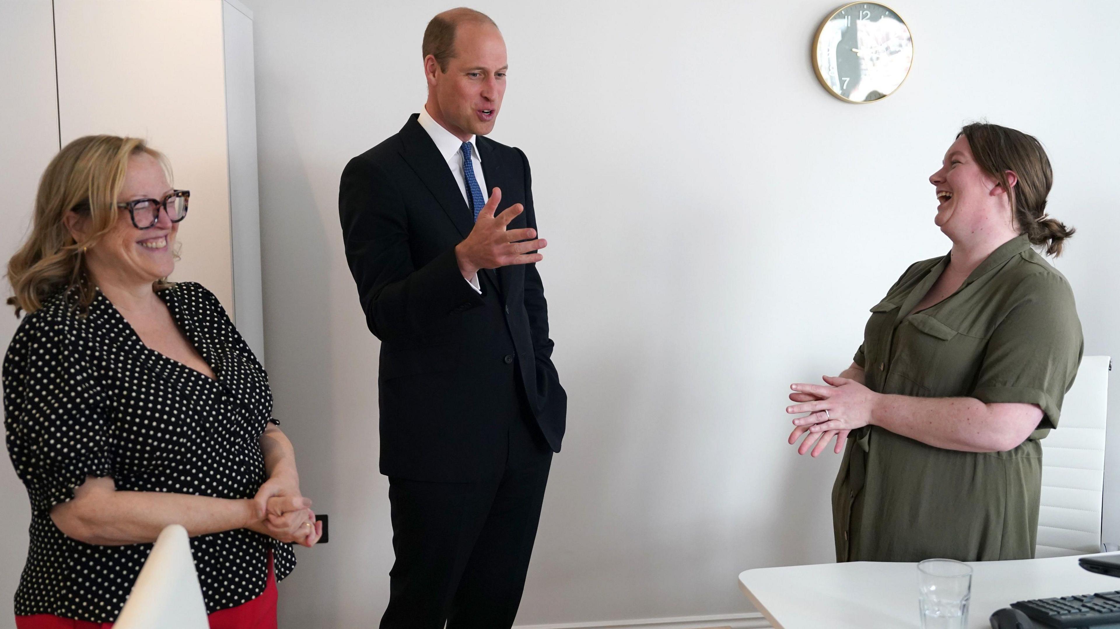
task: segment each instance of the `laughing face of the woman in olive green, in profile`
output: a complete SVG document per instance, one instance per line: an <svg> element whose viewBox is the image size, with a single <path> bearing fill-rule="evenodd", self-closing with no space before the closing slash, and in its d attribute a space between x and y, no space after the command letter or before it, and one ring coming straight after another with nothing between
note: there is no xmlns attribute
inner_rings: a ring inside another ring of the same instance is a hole
<svg viewBox="0 0 1120 629"><path fill-rule="evenodd" d="M937 214L933 222L951 237L982 229L992 220L1010 219L1007 194L999 181L977 163L964 135L949 147L941 170L930 176L930 182L937 195Z"/></svg>

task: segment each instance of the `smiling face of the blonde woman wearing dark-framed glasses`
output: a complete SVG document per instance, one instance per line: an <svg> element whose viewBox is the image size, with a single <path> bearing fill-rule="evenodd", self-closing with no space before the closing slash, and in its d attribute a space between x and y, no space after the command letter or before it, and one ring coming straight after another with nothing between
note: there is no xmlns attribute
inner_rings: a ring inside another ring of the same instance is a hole
<svg viewBox="0 0 1120 629"><path fill-rule="evenodd" d="M129 159L118 203L162 199L169 194L171 186L156 158L139 153ZM178 231L179 225L171 223L162 209L159 219L148 229L138 229L129 210L119 209L113 228L86 252L90 270L99 281L112 278L115 282L130 284L166 278L175 270L172 250Z"/></svg>

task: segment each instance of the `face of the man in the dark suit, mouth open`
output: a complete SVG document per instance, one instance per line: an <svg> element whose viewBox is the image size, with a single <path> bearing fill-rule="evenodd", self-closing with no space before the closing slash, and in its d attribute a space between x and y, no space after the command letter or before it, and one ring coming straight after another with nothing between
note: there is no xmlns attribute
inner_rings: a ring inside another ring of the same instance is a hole
<svg viewBox="0 0 1120 629"><path fill-rule="evenodd" d="M489 24L460 24L455 35L455 56L441 72L432 57L424 60L428 86L438 111L429 114L445 129L466 141L486 135L505 95L505 40Z"/></svg>

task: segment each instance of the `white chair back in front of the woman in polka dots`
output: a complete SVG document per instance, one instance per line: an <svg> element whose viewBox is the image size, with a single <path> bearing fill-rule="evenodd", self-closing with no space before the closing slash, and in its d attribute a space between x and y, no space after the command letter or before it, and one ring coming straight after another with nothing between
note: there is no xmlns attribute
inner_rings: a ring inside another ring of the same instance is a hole
<svg viewBox="0 0 1120 629"><path fill-rule="evenodd" d="M186 528L159 534L113 629L209 629Z"/></svg>

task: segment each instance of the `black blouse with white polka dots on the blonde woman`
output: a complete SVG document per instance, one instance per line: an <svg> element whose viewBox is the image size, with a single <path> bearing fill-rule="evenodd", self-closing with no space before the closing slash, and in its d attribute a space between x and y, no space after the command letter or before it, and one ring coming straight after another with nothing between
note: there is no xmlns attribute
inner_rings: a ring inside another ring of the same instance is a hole
<svg viewBox="0 0 1120 629"><path fill-rule="evenodd" d="M50 519L87 476L118 490L251 498L264 482L260 436L271 420L268 375L217 298L194 282L159 291L214 381L149 349L100 292L87 317L65 293L26 316L3 362L8 452L31 499L31 547L16 614L113 622L151 544L96 546ZM206 609L264 591L296 566L289 544L249 529L190 539Z"/></svg>

